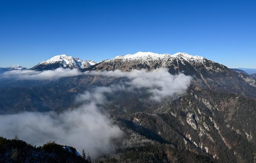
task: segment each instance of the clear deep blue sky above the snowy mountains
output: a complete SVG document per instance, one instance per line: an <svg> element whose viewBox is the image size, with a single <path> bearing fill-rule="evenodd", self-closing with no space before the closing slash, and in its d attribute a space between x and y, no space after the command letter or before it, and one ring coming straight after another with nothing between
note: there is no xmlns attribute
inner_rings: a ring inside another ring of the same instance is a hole
<svg viewBox="0 0 256 163"><path fill-rule="evenodd" d="M186 52L256 68L255 0L1 0L0 67Z"/></svg>

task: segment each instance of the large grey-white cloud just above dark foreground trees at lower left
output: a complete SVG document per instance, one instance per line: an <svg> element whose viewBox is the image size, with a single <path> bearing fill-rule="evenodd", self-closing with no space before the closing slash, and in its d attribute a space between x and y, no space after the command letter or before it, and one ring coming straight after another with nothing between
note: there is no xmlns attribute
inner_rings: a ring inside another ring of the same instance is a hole
<svg viewBox="0 0 256 163"><path fill-rule="evenodd" d="M12 139L15 134L33 145L49 140L85 149L90 156L113 152L112 140L122 136L118 126L102 114L94 102L57 114L25 112L0 116L1 136Z"/></svg>

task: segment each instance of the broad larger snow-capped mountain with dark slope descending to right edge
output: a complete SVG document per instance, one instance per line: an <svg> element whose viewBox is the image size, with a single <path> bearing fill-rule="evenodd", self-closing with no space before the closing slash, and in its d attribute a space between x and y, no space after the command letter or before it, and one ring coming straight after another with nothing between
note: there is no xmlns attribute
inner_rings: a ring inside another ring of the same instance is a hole
<svg viewBox="0 0 256 163"><path fill-rule="evenodd" d="M192 82L205 89L215 89L223 91L243 92L255 96L253 90L256 89L256 81L253 77L246 74L237 73L228 67L205 59L201 56L192 56L187 53L157 54L152 52L138 52L116 56L113 59L104 60L86 70L122 70L131 71L132 69L146 69L148 71L166 67L171 74L189 75L193 77ZM243 81L243 82L241 82ZM246 88L246 89L236 89ZM249 88L250 89L247 89ZM252 88L253 87L253 88ZM244 91L247 90L247 91Z"/></svg>

